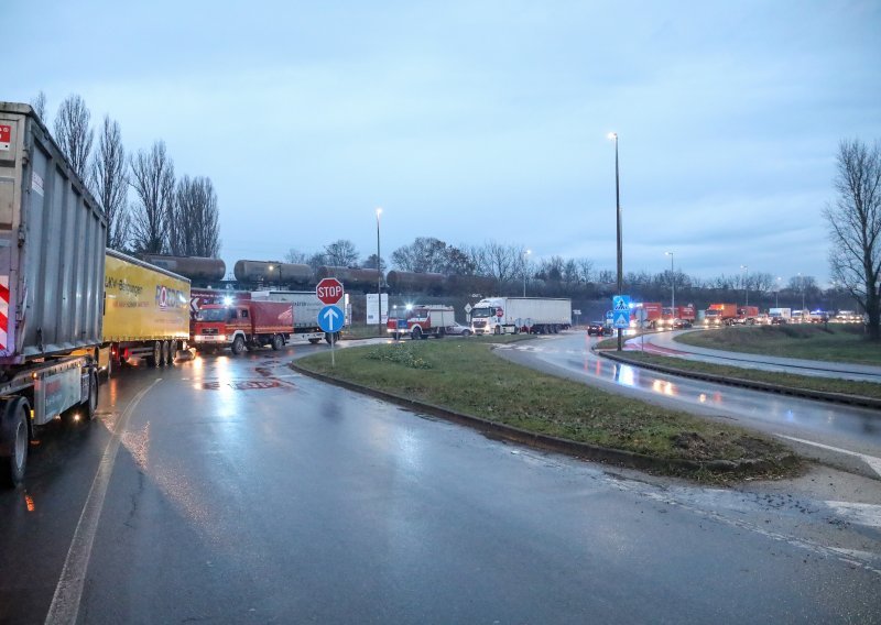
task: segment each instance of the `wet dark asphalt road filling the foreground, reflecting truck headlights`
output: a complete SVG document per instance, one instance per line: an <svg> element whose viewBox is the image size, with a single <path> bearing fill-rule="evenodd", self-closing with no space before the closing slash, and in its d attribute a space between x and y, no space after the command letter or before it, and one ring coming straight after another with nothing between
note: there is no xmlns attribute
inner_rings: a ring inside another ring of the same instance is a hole
<svg viewBox="0 0 881 625"><path fill-rule="evenodd" d="M670 485L325 385L133 369L0 493L2 623L835 623L881 501ZM48 617L47 617L48 615Z"/></svg>

